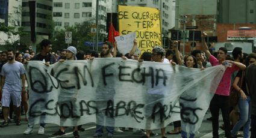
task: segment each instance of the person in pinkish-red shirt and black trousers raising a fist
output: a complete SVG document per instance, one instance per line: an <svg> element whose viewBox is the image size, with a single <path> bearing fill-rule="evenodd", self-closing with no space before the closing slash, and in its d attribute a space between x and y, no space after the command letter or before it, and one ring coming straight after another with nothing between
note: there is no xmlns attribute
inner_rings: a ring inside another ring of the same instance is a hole
<svg viewBox="0 0 256 138"><path fill-rule="evenodd" d="M208 50L205 37L207 37L207 34L202 32L202 50L205 52L205 55L209 59L211 65L216 66L223 64L224 62L232 65L232 67L226 68L222 80L220 81L219 86L217 87L214 97L210 103L211 116L213 117L211 122L213 127L213 137L219 137L219 109L222 111L223 122L225 125L225 136L231 137L231 124L229 120L229 91L231 85L231 75L234 73L234 71L239 69L245 70L246 66L240 62L226 61L228 50L225 47L219 48L217 52L217 58L215 58Z"/></svg>

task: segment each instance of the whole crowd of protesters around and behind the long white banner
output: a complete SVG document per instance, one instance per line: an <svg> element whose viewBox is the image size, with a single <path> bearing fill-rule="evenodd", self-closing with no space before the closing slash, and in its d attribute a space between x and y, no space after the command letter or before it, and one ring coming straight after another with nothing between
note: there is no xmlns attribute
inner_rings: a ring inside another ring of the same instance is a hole
<svg viewBox="0 0 256 138"><path fill-rule="evenodd" d="M202 50L193 50L189 55L183 55L179 52L178 41L173 41L169 49L164 50L161 46L155 46L152 52L144 52L142 55L135 54L137 41L134 40L134 46L130 53L118 52L118 46L114 46L110 42L105 42L102 46L102 52L90 51L84 53L76 50L76 47L69 46L63 49L60 53L52 52L52 43L49 40L43 40L40 43L40 53L26 50L25 53L20 53L13 50L3 51L0 53L0 70L1 70L1 116L4 121L1 127L7 127L14 119L16 125L20 125L20 116L25 115L28 111L28 84L25 76L23 64L29 61L43 61L45 65L55 64L55 62L64 62L66 60L93 60L93 58L117 58L134 59L138 62L152 61L162 62L163 64L182 65L187 68L205 68L220 64L227 65L226 71L222 80L217 87L213 99L210 103L211 121L213 128L213 137L219 137L219 110L222 112L224 124L221 126L225 130L226 137L237 137L238 131L243 128L243 137L249 137L251 127L251 137L256 137L256 54L243 53L242 48L236 47L232 56L228 56L228 51L225 47L220 47L215 53L211 53L205 43L206 33L202 33ZM184 56L184 58L183 58ZM140 57L140 58L139 58ZM233 76L233 77L232 77ZM236 90L238 94L237 104L231 105L229 96L231 88ZM13 116L14 112L14 116ZM33 133L34 118L29 117L28 128L24 134ZM98 119L98 118L97 118ZM195 134L187 136L186 131L183 131L181 121L173 122L173 130L166 131L161 128L161 137L166 138L166 134L177 135L181 133L181 137L195 137ZM40 123L38 134L45 133L45 122ZM52 136L61 136L65 134L64 126L52 134ZM93 137L102 137L104 126L96 125L96 132ZM113 137L114 132L123 132L128 128L108 127L107 137ZM80 137L78 131L84 131L80 126L73 127L73 136ZM134 133L143 133L142 137L148 138L157 136L152 130L133 129Z"/></svg>

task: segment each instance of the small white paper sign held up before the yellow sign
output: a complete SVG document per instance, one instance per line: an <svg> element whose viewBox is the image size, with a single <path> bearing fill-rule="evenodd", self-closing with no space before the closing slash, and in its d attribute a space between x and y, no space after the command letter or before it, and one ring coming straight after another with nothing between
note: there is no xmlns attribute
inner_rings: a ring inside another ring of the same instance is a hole
<svg viewBox="0 0 256 138"><path fill-rule="evenodd" d="M136 33L131 32L127 35L120 35L118 37L114 37L117 43L117 49L120 53L125 55L126 53L130 53L131 49L133 48L133 41L136 38ZM138 53L138 52L137 52Z"/></svg>

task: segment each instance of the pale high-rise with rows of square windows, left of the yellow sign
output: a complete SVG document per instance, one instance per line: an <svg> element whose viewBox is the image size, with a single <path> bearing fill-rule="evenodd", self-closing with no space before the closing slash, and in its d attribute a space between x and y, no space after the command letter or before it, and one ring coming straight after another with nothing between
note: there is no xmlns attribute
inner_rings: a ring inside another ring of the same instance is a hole
<svg viewBox="0 0 256 138"><path fill-rule="evenodd" d="M106 28L106 18L107 13L111 12L111 2L111 0L99 0L99 25L101 29ZM96 0L53 0L52 16L57 29L75 26L76 23L89 20L96 23Z"/></svg>

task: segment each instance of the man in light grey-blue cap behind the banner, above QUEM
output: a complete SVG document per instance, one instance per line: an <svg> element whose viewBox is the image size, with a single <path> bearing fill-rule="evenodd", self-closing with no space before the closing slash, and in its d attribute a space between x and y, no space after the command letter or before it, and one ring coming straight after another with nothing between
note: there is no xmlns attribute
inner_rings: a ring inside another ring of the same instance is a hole
<svg viewBox="0 0 256 138"><path fill-rule="evenodd" d="M75 47L73 47L73 46L67 47L67 49L66 49L66 59L67 59L67 61L76 60L76 56L75 56L76 53L77 52L76 52ZM65 61L64 59L59 60L59 62L64 62L64 61ZM69 95L69 94L77 95L77 94L75 94L75 91L72 91L72 89L69 89L68 91L63 90L62 92L64 93L64 95ZM72 99L72 98L64 99L63 97L61 97L61 101L58 101L58 104L60 104L60 106L61 106L61 104L67 104L67 103L71 102L71 103L73 103L73 108L75 109L75 101L76 101L76 98L74 98L74 99ZM60 129L57 132L52 134L52 136L61 136L61 135L64 135L64 134L66 134L65 133L65 127L61 126ZM74 137L80 137L79 134L78 134L78 126L73 127L73 136Z"/></svg>

